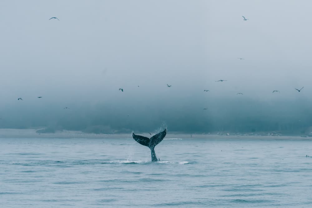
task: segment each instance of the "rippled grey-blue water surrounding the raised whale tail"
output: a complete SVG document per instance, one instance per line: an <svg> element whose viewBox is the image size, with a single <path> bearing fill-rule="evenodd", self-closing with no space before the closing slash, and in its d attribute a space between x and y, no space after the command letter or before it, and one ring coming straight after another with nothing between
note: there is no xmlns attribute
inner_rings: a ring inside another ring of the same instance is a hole
<svg viewBox="0 0 312 208"><path fill-rule="evenodd" d="M0 139L0 207L312 207L312 141Z"/></svg>

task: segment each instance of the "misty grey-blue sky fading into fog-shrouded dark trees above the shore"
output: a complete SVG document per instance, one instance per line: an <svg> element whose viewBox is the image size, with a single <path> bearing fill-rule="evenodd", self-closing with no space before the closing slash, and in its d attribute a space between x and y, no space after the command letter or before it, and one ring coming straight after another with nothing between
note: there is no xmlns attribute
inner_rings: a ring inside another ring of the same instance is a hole
<svg viewBox="0 0 312 208"><path fill-rule="evenodd" d="M306 128L311 6L2 0L0 128Z"/></svg>

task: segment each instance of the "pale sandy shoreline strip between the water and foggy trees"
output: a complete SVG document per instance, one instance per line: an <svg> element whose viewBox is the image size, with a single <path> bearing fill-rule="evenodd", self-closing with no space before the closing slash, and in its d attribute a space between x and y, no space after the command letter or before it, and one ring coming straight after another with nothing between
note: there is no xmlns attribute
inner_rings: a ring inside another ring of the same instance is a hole
<svg viewBox="0 0 312 208"><path fill-rule="evenodd" d="M84 133L80 131L57 131L56 133L36 133L38 129L0 129L1 138L132 138L131 133L116 133L116 134L95 134ZM136 133L142 136L150 137L149 133ZM186 133L167 133L165 139L258 139L258 140L312 140L308 136L286 136L286 135L252 135L242 133L240 135L227 134L186 134Z"/></svg>

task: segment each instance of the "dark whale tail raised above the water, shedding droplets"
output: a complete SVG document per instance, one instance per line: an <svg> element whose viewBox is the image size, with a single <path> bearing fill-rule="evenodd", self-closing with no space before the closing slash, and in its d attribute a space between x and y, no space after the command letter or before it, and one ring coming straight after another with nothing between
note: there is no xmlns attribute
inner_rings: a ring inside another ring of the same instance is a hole
<svg viewBox="0 0 312 208"><path fill-rule="evenodd" d="M158 159L156 157L154 148L157 144L159 144L161 141L163 141L163 138L165 138L166 133L167 133L167 129L165 129L164 131L162 131L158 134L155 134L151 138L143 137L140 135L135 135L134 133L132 133L132 137L138 143L148 147L151 150L152 162L157 162Z"/></svg>

